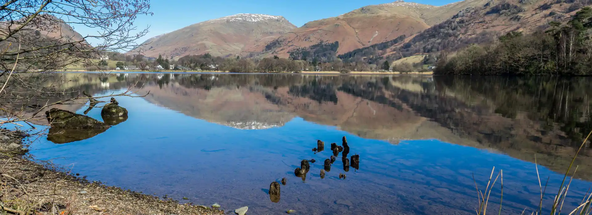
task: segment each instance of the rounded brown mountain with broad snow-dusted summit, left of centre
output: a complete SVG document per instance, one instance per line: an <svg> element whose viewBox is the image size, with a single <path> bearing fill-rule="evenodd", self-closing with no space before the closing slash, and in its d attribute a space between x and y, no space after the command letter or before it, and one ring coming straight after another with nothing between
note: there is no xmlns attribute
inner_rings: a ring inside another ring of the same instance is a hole
<svg viewBox="0 0 592 215"><path fill-rule="evenodd" d="M268 42L296 28L283 16L237 14L189 25L148 39L134 51L147 57L182 57L210 53L237 55L265 47Z"/></svg>

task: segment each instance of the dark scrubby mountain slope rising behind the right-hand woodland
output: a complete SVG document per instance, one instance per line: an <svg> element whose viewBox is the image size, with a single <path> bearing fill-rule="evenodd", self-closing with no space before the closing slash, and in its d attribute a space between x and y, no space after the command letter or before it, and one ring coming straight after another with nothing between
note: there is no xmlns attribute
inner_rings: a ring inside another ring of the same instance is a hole
<svg viewBox="0 0 592 215"><path fill-rule="evenodd" d="M462 1L450 5L460 10L445 21L411 35L406 41L374 54L398 58L456 51L470 44L493 42L507 32L520 31L526 34L548 28L551 21L567 22L578 9L591 4L585 0L490 0L474 3L482 4Z"/></svg>

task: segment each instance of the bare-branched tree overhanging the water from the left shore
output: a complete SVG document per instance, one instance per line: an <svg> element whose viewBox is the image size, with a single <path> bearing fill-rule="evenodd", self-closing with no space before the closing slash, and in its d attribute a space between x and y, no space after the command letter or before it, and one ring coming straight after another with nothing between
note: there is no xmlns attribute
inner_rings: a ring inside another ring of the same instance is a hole
<svg viewBox="0 0 592 215"><path fill-rule="evenodd" d="M4 117L0 127L18 125L0 133L15 132L23 128L19 125L25 124L50 125L47 120L36 119L44 118L45 111L59 104L81 104L81 101L84 104L88 96L72 89L57 90L70 80L56 79L59 74L50 72L72 64L88 63L96 68L98 62L104 64L96 61L101 56L137 47L137 39L146 35L147 29L137 29L133 22L139 15L151 14L149 3L149 0L3 1L0 4L0 107ZM69 25L92 31L85 36L73 34ZM50 84L38 84L42 82ZM115 95L131 96L131 90ZM115 95L90 98L99 100Z"/></svg>

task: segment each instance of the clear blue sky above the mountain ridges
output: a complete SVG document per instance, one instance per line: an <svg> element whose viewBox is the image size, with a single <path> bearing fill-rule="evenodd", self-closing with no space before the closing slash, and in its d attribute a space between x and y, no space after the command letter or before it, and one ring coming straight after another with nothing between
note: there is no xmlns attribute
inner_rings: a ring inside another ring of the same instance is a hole
<svg viewBox="0 0 592 215"><path fill-rule="evenodd" d="M150 25L150 32L139 43L188 25L234 14L267 14L284 16L297 27L317 19L339 16L362 6L390 3L395 0L152 0L153 16L139 16L139 28ZM445 5L459 0L409 0L428 5ZM76 27L75 27L76 29ZM85 30L76 29L82 35ZM88 34L88 33L87 33ZM92 41L91 41L92 42Z"/></svg>

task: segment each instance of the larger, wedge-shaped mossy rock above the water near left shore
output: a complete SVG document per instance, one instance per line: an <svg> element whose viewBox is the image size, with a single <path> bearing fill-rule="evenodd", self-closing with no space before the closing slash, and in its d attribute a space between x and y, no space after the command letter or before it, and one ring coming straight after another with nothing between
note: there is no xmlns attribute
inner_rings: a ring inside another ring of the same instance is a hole
<svg viewBox="0 0 592 215"><path fill-rule="evenodd" d="M89 129L111 127L94 118L57 108L52 108L52 110L46 111L45 115L47 121L52 125L52 128Z"/></svg>

